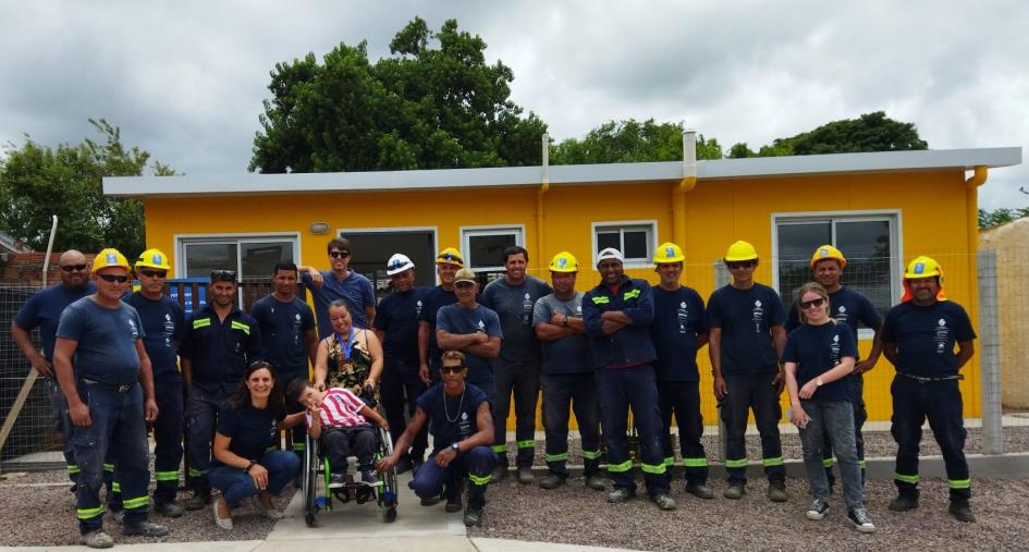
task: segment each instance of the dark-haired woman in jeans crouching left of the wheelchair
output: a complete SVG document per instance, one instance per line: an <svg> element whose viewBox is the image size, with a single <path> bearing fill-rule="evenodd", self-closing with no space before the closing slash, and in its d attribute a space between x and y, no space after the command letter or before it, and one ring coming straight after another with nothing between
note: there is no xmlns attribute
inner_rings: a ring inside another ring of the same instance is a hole
<svg viewBox="0 0 1029 552"><path fill-rule="evenodd" d="M281 429L303 421L303 412L285 416L282 388L271 365L252 364L240 389L218 414L215 459L208 471L211 486L221 491L212 503L218 527L232 529L230 511L255 494L265 517L282 518L271 498L299 474L301 461L292 452L268 449L278 441Z"/></svg>

